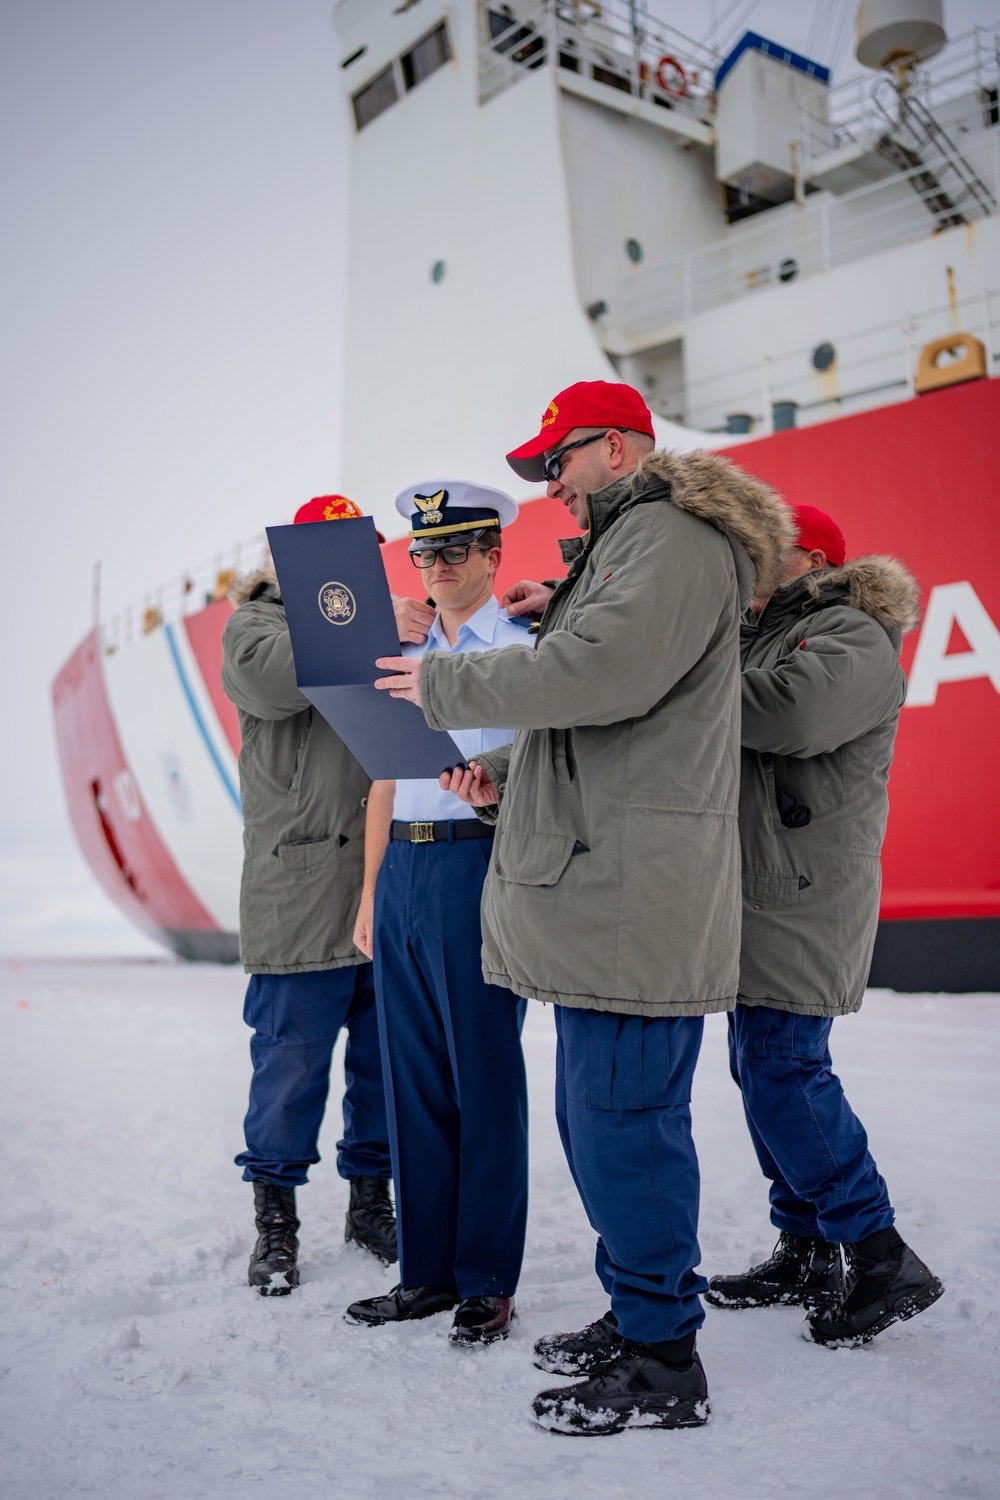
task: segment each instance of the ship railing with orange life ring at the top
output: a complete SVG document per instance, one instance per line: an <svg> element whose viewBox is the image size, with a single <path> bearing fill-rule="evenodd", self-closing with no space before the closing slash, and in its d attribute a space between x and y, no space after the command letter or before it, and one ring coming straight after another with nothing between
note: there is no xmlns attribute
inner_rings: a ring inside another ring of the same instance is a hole
<svg viewBox="0 0 1000 1500"><path fill-rule="evenodd" d="M478 14L480 104L558 68L699 120L714 111L718 54L643 0L480 0Z"/></svg>

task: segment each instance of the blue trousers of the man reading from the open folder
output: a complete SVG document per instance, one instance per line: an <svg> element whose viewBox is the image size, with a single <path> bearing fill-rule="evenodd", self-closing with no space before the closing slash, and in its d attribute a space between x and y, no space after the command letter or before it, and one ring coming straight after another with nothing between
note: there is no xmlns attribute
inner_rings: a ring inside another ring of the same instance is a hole
<svg viewBox="0 0 1000 1500"><path fill-rule="evenodd" d="M700 1016L646 1020L556 1005L556 1120L586 1215L595 1269L627 1338L699 1329L700 1178L691 1080Z"/></svg>

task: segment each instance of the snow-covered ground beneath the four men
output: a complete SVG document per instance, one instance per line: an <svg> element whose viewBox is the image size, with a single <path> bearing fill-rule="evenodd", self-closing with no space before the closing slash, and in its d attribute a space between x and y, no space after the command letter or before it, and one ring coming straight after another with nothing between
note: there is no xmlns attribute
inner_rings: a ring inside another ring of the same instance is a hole
<svg viewBox="0 0 1000 1500"><path fill-rule="evenodd" d="M532 1340L604 1311L552 1119L552 1014L532 1005L525 1032L520 1317L469 1353L448 1317L342 1322L394 1275L343 1244L336 1112L300 1192L301 1288L246 1287L243 984L169 962L0 964L4 1500L1000 1494L999 996L873 993L834 1034L900 1228L946 1296L841 1352L807 1344L796 1310L709 1308L709 1426L586 1440L526 1414L558 1383L532 1368ZM708 1270L774 1242L724 1034L711 1017L696 1090Z"/></svg>

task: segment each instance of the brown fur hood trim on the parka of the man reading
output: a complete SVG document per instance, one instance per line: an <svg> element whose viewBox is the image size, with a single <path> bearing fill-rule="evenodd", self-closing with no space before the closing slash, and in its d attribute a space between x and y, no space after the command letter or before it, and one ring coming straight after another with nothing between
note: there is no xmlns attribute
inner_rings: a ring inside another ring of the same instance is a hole
<svg viewBox="0 0 1000 1500"><path fill-rule="evenodd" d="M766 597L778 586L796 530L777 490L745 474L718 453L648 453L637 468L640 478L670 484L678 510L711 520L732 534L756 570L754 594Z"/></svg>

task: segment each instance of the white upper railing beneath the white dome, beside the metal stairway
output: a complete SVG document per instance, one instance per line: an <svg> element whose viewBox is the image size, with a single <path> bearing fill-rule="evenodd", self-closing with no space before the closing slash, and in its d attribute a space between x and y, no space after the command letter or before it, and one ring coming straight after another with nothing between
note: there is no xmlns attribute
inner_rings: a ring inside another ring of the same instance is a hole
<svg viewBox="0 0 1000 1500"><path fill-rule="evenodd" d="M1000 28L975 26L949 40L943 52L921 57L904 74L864 72L817 88L802 100L799 170L808 182L811 164L852 144L876 142L886 130L877 90L897 78L909 98L934 114L948 129L966 130L996 122L1000 76Z"/></svg>

